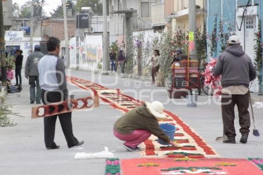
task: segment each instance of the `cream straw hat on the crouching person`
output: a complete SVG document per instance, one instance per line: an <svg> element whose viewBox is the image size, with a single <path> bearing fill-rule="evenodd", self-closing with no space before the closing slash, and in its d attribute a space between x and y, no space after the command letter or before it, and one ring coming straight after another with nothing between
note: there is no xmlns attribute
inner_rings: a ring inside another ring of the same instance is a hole
<svg viewBox="0 0 263 175"><path fill-rule="evenodd" d="M154 115L157 119L167 118L163 114L164 107L160 101L153 101L152 103L145 102L145 105L149 112Z"/></svg>

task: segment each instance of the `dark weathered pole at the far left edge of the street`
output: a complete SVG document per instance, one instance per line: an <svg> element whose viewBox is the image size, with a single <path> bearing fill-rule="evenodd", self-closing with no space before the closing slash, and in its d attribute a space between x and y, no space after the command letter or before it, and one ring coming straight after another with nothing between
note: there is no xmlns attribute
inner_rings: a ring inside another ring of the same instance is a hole
<svg viewBox="0 0 263 175"><path fill-rule="evenodd" d="M4 15L3 15L2 1L0 1L0 54L1 54L2 86L6 86L5 29L4 29Z"/></svg>

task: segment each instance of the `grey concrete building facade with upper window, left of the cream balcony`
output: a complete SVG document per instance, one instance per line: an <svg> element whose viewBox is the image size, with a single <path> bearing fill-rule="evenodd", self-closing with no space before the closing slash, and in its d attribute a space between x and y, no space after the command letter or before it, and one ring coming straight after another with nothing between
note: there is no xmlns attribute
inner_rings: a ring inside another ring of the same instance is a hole
<svg viewBox="0 0 263 175"><path fill-rule="evenodd" d="M133 31L152 29L152 6L158 3L163 0L110 0L110 43L121 44Z"/></svg>

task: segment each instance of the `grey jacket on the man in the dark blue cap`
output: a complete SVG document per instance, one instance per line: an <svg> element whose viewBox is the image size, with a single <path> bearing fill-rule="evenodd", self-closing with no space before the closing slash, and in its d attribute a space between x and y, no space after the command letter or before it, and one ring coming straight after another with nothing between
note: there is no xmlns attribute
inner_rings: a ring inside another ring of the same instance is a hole
<svg viewBox="0 0 263 175"><path fill-rule="evenodd" d="M45 55L41 52L33 52L28 55L25 67L25 77L38 76L37 64L43 56Z"/></svg>

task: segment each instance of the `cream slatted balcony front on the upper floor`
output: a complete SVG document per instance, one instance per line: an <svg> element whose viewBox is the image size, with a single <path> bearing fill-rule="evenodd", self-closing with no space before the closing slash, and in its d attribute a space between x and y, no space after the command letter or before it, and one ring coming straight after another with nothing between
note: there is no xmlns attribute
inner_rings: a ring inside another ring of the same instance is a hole
<svg viewBox="0 0 263 175"><path fill-rule="evenodd" d="M151 8L153 26L165 25L164 3L154 4Z"/></svg>

